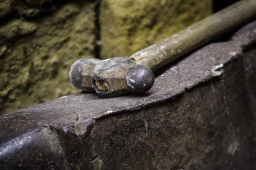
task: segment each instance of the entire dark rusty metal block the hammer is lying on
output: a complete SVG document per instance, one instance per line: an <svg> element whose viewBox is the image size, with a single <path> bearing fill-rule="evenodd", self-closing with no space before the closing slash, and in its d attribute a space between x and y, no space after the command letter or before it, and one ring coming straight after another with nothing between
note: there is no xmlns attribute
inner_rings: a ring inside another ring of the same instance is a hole
<svg viewBox="0 0 256 170"><path fill-rule="evenodd" d="M147 93L79 93L5 114L0 167L256 168L255 41L256 21L162 70Z"/></svg>

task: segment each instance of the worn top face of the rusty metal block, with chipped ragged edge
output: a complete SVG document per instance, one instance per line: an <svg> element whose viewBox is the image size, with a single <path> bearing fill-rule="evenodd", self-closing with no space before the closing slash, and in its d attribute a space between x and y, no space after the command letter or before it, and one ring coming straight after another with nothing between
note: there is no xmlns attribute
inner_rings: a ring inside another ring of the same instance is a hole
<svg viewBox="0 0 256 170"><path fill-rule="evenodd" d="M0 117L0 146L18 134L39 131L47 124L71 133L79 129L76 133L82 135L87 126L93 124L93 119L174 98L186 89L219 76L222 67L241 55L242 48L254 41L256 21L239 30L232 41L212 43L176 62L156 77L154 86L147 93L102 99L95 93L81 92L5 114Z"/></svg>

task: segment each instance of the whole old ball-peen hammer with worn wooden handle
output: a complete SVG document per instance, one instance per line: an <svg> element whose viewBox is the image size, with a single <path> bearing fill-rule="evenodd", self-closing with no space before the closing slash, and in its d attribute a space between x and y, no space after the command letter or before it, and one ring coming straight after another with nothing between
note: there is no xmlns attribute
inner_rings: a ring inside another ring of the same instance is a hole
<svg viewBox="0 0 256 170"><path fill-rule="evenodd" d="M129 57L79 59L70 68L70 82L103 98L146 92L154 85L154 70L255 17L256 0L241 0Z"/></svg>

